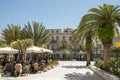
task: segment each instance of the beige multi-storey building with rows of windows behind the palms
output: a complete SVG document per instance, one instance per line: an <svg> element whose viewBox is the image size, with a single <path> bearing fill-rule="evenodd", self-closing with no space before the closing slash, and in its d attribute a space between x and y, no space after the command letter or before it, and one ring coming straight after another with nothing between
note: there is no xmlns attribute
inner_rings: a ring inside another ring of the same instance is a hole
<svg viewBox="0 0 120 80"><path fill-rule="evenodd" d="M65 41L68 45L73 47L70 36L72 35L73 29L66 28L62 29L47 29L50 32L50 42L47 44L47 48L56 51L57 48L60 46L62 41Z"/></svg>

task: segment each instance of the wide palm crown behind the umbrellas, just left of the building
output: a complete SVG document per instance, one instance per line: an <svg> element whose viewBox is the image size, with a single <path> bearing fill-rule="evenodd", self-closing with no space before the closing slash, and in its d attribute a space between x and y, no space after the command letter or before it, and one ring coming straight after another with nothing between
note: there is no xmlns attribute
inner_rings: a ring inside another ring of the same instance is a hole
<svg viewBox="0 0 120 80"><path fill-rule="evenodd" d="M42 46L49 41L49 32L42 23L37 22L33 22L32 25L28 22L21 31L21 36L23 39L33 39L35 46Z"/></svg>

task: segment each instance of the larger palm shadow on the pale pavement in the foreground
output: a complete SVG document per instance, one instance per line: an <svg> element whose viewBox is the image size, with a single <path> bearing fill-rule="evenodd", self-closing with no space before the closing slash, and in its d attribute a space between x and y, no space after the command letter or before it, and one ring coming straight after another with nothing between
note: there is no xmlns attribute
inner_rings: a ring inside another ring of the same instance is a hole
<svg viewBox="0 0 120 80"><path fill-rule="evenodd" d="M95 74L91 74L90 72L86 72L85 74L81 73L69 73L65 74L66 80L103 80Z"/></svg>

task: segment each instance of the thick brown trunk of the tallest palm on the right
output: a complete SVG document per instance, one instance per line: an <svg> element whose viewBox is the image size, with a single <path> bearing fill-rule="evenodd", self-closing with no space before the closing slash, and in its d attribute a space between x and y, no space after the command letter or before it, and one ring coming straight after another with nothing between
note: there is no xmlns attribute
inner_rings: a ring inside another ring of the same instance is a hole
<svg viewBox="0 0 120 80"><path fill-rule="evenodd" d="M112 45L112 41L110 42L103 42L103 48L104 48L104 64L103 68L108 70L108 60L110 59L110 48Z"/></svg>

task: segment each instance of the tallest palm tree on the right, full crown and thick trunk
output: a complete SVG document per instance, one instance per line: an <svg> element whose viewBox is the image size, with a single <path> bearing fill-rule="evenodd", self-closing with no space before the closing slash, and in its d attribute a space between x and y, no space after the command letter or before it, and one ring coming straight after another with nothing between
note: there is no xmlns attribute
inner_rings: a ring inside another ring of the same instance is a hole
<svg viewBox="0 0 120 80"><path fill-rule="evenodd" d="M98 8L90 9L89 12L82 17L79 26L85 27L87 30L94 30L101 40L104 48L103 68L107 69L114 31L120 25L120 7L104 4Z"/></svg>

